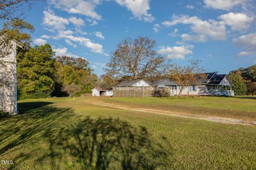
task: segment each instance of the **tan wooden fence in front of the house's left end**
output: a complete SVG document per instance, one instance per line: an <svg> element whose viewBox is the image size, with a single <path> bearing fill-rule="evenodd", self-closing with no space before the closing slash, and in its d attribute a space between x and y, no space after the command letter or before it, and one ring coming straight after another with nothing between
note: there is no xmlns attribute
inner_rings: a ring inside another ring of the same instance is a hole
<svg viewBox="0 0 256 170"><path fill-rule="evenodd" d="M142 87L113 87L113 97L151 97L154 88Z"/></svg>

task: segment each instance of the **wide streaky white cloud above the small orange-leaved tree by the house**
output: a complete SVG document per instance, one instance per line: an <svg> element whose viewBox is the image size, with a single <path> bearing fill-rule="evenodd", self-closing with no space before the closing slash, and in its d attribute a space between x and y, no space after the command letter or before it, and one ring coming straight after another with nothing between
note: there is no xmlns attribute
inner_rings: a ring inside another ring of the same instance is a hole
<svg viewBox="0 0 256 170"><path fill-rule="evenodd" d="M196 38L197 41L205 42L209 39L212 40L225 40L226 39L226 27L223 22L218 22L214 20L203 21L197 16L181 15L172 16L172 21L164 21L162 24L166 27L171 27L176 24L190 24L191 30L196 33L196 35L184 35L183 40L193 40Z"/></svg>

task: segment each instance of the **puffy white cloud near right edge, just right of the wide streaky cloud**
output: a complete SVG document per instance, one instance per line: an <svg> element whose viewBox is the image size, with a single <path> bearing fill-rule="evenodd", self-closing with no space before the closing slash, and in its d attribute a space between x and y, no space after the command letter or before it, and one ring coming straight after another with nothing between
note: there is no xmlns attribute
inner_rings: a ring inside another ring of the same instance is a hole
<svg viewBox="0 0 256 170"><path fill-rule="evenodd" d="M233 12L220 15L218 18L229 25L233 31L246 30L250 27L250 23L253 21L253 17L247 16L243 13Z"/></svg>

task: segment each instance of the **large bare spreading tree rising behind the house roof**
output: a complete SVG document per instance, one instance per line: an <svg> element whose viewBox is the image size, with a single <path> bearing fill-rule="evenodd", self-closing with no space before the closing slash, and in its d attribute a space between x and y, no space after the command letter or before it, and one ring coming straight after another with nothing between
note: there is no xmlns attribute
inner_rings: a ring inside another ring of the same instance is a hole
<svg viewBox="0 0 256 170"><path fill-rule="evenodd" d="M155 50L156 41L148 37L126 38L117 45L105 69L119 79L143 79L162 74L167 59Z"/></svg>

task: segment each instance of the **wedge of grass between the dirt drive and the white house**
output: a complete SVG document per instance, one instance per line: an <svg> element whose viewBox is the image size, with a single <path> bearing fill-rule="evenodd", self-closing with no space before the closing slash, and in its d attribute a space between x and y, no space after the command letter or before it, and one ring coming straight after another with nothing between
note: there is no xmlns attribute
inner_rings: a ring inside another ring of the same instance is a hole
<svg viewBox="0 0 256 170"><path fill-rule="evenodd" d="M169 97L169 98L102 98L105 102L131 107L242 118L256 121L256 97Z"/></svg>

